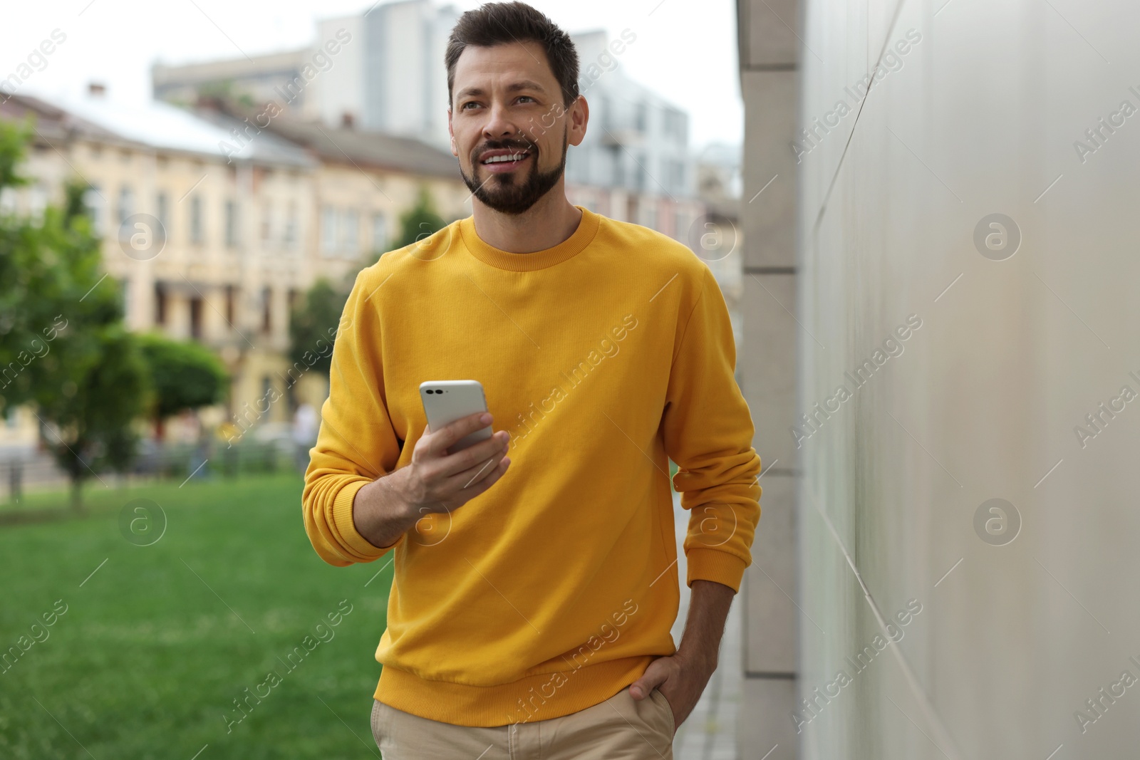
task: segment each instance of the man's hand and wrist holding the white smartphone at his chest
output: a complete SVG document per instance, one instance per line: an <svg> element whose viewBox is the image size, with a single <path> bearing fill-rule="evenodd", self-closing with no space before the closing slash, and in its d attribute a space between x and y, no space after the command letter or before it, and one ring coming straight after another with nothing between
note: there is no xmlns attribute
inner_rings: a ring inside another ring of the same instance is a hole
<svg viewBox="0 0 1140 760"><path fill-rule="evenodd" d="M377 548L388 548L430 513L451 512L475 498L506 473L511 434L498 431L462 451L448 449L486 427L489 412L455 420L435 432L424 428L412 463L357 491L352 520L357 531Z"/></svg>

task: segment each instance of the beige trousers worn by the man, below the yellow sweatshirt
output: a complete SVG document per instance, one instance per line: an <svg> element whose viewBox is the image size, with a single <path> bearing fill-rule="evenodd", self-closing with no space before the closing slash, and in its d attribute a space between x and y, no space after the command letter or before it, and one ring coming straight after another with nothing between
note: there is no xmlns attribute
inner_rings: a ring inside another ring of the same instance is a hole
<svg viewBox="0 0 1140 760"><path fill-rule="evenodd" d="M656 688L640 702L627 686L569 716L491 728L373 702L372 735L384 760L673 760L673 709Z"/></svg>

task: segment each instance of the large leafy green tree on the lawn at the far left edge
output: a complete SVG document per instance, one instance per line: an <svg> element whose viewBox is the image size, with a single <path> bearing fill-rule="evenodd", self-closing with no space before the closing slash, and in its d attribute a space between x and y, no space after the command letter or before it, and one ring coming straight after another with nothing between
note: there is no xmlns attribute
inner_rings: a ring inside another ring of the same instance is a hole
<svg viewBox="0 0 1140 760"><path fill-rule="evenodd" d="M0 122L0 191L18 173L30 125ZM72 481L124 469L148 385L138 343L122 325L119 284L103 273L101 242L83 213L84 182L38 218L0 218L0 408L30 403L40 436Z"/></svg>

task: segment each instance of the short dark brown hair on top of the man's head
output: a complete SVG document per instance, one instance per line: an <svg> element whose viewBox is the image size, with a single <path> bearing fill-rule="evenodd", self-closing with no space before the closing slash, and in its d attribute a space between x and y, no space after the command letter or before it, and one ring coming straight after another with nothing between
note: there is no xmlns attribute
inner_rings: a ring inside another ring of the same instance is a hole
<svg viewBox="0 0 1140 760"><path fill-rule="evenodd" d="M491 48L510 42L537 42L546 51L546 63L562 88L563 105L578 99L578 50L570 35L542 11L524 2L487 2L459 16L447 42L447 101L451 105L455 65L473 44Z"/></svg>

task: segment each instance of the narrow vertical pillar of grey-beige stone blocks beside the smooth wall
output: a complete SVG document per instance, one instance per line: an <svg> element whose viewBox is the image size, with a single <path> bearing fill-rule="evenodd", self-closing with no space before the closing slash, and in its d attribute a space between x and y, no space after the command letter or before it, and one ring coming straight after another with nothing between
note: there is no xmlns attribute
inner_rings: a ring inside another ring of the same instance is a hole
<svg viewBox="0 0 1140 760"><path fill-rule="evenodd" d="M744 288L742 391L756 424L764 473L762 517L744 574L744 685L738 725L742 760L799 757L797 698L796 320L797 0L738 0L744 98L741 198Z"/></svg>

